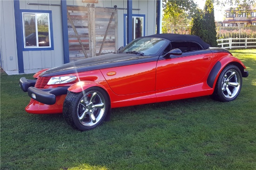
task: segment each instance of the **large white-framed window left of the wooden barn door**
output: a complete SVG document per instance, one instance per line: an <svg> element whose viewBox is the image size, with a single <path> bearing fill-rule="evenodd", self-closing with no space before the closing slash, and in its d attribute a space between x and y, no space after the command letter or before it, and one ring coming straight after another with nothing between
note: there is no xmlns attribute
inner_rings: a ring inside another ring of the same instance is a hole
<svg viewBox="0 0 256 170"><path fill-rule="evenodd" d="M22 13L25 49L51 47L49 17L49 13Z"/></svg>

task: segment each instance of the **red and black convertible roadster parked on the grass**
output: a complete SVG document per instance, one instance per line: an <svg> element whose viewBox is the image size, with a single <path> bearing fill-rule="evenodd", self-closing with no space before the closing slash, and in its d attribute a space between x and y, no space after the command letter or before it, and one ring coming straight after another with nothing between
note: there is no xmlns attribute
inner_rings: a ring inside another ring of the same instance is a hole
<svg viewBox="0 0 256 170"><path fill-rule="evenodd" d="M212 95L233 101L249 73L222 48L197 36L157 34L137 38L117 53L44 69L20 78L31 97L28 113L63 113L67 123L90 130L111 108Z"/></svg>

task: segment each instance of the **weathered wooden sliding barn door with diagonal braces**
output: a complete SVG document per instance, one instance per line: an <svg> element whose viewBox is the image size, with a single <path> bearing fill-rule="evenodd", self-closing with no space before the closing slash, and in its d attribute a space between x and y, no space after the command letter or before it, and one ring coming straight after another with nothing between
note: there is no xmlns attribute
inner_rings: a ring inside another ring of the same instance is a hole
<svg viewBox="0 0 256 170"><path fill-rule="evenodd" d="M67 26L70 62L117 50L116 9L68 6Z"/></svg>

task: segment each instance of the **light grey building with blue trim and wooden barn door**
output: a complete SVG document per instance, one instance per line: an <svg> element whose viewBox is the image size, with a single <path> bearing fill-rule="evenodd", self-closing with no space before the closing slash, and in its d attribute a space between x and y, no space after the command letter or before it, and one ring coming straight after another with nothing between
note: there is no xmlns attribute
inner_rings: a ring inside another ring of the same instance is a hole
<svg viewBox="0 0 256 170"><path fill-rule="evenodd" d="M114 52L128 39L156 33L157 4L162 1L1 0L1 67L27 73Z"/></svg>

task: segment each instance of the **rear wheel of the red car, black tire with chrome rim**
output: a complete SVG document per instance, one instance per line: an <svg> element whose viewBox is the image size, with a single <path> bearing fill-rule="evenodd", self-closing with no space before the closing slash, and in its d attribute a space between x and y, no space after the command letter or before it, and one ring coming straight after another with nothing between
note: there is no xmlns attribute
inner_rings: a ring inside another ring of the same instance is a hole
<svg viewBox="0 0 256 170"><path fill-rule="evenodd" d="M235 65L228 65L218 77L212 96L215 100L222 102L233 101L240 93L242 83L240 69Z"/></svg>

